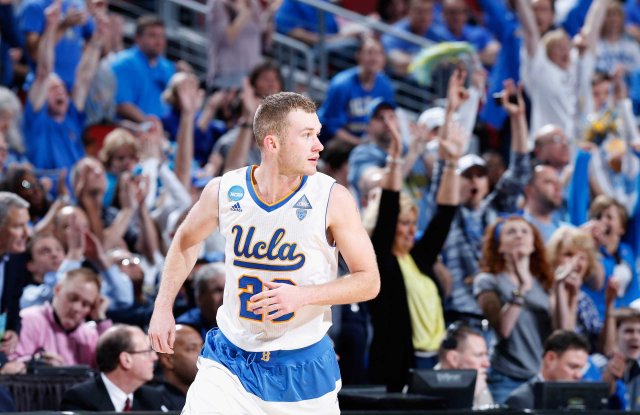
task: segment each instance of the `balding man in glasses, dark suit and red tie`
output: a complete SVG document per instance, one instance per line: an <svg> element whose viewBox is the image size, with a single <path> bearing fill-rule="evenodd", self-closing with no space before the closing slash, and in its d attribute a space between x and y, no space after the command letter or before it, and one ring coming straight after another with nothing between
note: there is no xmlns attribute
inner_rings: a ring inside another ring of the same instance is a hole
<svg viewBox="0 0 640 415"><path fill-rule="evenodd" d="M100 374L67 390L63 411L166 411L162 394L145 383L153 378L158 356L140 328L116 325L98 341Z"/></svg>

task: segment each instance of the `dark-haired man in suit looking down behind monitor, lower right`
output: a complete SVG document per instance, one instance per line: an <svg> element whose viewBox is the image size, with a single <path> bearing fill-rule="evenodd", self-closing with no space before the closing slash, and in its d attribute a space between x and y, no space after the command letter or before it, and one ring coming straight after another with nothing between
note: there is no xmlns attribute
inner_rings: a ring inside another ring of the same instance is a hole
<svg viewBox="0 0 640 415"><path fill-rule="evenodd" d="M511 409L534 409L537 382L578 382L589 358L589 343L579 334L556 330L544 343L540 373L516 388L505 404Z"/></svg>

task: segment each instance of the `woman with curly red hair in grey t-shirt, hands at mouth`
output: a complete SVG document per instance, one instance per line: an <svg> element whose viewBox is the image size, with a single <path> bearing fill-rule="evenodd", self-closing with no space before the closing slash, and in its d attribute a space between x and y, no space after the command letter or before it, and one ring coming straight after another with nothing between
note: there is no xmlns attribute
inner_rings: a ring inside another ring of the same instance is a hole
<svg viewBox="0 0 640 415"><path fill-rule="evenodd" d="M474 295L495 330L489 384L497 403L538 373L551 333L553 274L544 242L521 216L498 219L484 234L482 273Z"/></svg>

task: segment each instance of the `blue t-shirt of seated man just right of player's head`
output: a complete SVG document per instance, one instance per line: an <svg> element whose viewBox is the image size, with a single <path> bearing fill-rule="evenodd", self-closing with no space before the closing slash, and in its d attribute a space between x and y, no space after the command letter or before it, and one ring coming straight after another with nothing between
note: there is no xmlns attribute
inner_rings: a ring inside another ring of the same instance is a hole
<svg viewBox="0 0 640 415"><path fill-rule="evenodd" d="M370 90L360 83L360 68L344 70L333 77L327 90L327 96L318 110L322 123L322 135L330 139L340 128L362 137L367 129L369 103L382 98L395 104L391 80L380 72Z"/></svg>

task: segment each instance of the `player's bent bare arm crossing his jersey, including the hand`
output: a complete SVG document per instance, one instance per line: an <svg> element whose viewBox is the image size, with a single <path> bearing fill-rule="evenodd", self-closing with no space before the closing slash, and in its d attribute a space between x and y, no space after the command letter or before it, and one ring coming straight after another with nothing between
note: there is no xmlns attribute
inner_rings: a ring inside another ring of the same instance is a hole
<svg viewBox="0 0 640 415"><path fill-rule="evenodd" d="M293 286L265 283L268 288L251 297L249 310L273 320L305 305L350 304L367 301L380 291L376 256L355 201L341 185L331 190L327 212L328 232L347 262L351 274L326 284ZM275 311L274 314L268 314Z"/></svg>

